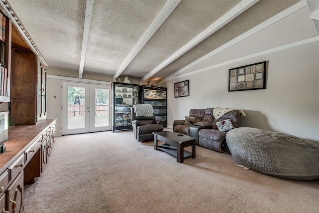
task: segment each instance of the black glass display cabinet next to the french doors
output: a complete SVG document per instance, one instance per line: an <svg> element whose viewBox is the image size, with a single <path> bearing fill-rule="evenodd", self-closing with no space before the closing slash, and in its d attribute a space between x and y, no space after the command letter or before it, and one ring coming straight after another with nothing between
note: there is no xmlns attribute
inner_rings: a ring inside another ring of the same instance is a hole
<svg viewBox="0 0 319 213"><path fill-rule="evenodd" d="M132 107L139 104L139 85L112 83L111 130L132 129Z"/></svg>

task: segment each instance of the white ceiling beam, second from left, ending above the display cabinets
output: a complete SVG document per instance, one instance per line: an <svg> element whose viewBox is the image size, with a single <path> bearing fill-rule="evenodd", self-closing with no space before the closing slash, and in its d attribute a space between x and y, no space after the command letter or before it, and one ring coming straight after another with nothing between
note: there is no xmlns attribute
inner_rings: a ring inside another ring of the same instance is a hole
<svg viewBox="0 0 319 213"><path fill-rule="evenodd" d="M116 79L122 74L122 72L126 69L126 67L131 63L131 61L137 56L137 54L141 51L141 49L145 46L145 44L151 39L154 33L159 29L162 23L166 20L166 18L170 15L170 13L175 9L178 3L181 0L167 0L163 8L160 10L159 14L153 20L149 28L144 32L140 40L134 46L129 55L125 58L121 66L113 75L113 80Z"/></svg>

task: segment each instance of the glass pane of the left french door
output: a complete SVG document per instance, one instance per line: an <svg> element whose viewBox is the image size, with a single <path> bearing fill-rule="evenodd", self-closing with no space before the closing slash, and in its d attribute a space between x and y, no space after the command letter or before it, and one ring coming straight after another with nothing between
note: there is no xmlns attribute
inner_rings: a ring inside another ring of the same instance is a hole
<svg viewBox="0 0 319 213"><path fill-rule="evenodd" d="M68 86L68 129L85 128L85 87Z"/></svg>

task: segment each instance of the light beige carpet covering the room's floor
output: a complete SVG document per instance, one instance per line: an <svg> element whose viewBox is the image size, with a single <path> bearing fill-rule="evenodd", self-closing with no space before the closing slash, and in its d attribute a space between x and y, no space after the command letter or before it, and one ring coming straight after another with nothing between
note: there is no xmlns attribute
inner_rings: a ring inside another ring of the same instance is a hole
<svg viewBox="0 0 319 213"><path fill-rule="evenodd" d="M24 212L319 212L319 179L244 170L229 152L198 146L196 158L180 164L153 145L132 131L58 137L44 173L24 189Z"/></svg>

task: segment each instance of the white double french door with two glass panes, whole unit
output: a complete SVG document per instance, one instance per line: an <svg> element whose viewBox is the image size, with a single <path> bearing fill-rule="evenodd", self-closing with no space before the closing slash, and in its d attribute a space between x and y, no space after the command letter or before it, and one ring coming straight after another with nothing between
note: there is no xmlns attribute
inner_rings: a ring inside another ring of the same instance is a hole
<svg viewBox="0 0 319 213"><path fill-rule="evenodd" d="M111 86L62 82L62 135L111 130Z"/></svg>

